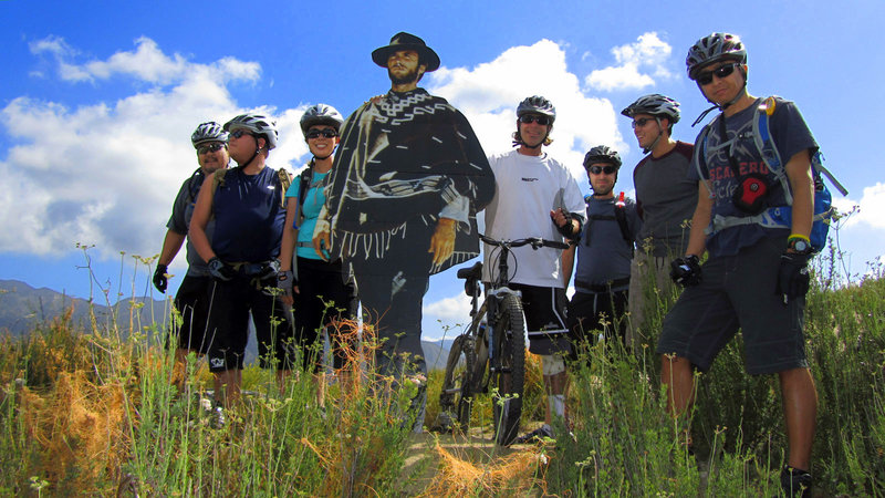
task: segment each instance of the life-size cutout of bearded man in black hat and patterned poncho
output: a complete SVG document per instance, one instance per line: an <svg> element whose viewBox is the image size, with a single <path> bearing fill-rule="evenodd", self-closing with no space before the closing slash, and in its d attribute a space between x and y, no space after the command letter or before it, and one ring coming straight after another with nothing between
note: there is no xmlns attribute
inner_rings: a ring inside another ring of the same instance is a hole
<svg viewBox="0 0 885 498"><path fill-rule="evenodd" d="M377 373L419 385L409 417L420 432L424 294L430 274L479 255L476 212L494 194L494 178L464 115L417 86L439 68L424 40L397 33L372 60L387 69L391 91L342 125L313 242L324 259L353 264L367 323L377 330Z"/></svg>

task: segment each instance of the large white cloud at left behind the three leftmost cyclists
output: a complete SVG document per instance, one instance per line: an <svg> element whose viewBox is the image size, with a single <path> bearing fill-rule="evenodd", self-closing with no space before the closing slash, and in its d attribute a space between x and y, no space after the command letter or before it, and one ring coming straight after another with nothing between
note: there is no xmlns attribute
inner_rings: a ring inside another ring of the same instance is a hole
<svg viewBox="0 0 885 498"><path fill-rule="evenodd" d="M201 122L244 112L226 84L256 82L260 65L232 58L191 62L164 54L146 38L136 45L79 64L71 60L77 51L63 39L31 44L34 54L53 54L62 80L101 85L123 74L135 80L134 90L75 108L20 96L0 110L0 126L13 144L0 160L0 251L62 253L75 242L95 245L104 255L159 251L175 194L197 167L191 132ZM143 90L143 83L152 86ZM271 166L289 166L306 153L301 111L277 115L281 141ZM184 259L176 258L176 266Z"/></svg>

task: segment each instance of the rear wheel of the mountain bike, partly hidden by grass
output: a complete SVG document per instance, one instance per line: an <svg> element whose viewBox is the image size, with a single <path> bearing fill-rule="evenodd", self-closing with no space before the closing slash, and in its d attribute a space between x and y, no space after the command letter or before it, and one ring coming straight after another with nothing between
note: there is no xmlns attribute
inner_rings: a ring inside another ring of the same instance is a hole
<svg viewBox="0 0 885 498"><path fill-rule="evenodd" d="M476 369L476 344L469 334L455 338L446 362L442 388L439 392L440 425L445 429L467 433L473 404L471 372ZM448 419L446 419L448 417Z"/></svg>

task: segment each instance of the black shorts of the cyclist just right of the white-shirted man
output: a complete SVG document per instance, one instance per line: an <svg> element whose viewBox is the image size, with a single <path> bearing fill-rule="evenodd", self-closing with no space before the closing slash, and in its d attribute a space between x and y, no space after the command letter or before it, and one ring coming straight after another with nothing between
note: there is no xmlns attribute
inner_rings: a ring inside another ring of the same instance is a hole
<svg viewBox="0 0 885 498"><path fill-rule="evenodd" d="M569 302L569 334L575 349L583 342L593 345L602 332L606 339L624 341L628 301L626 289L612 292L575 292ZM576 351L575 351L576 353Z"/></svg>

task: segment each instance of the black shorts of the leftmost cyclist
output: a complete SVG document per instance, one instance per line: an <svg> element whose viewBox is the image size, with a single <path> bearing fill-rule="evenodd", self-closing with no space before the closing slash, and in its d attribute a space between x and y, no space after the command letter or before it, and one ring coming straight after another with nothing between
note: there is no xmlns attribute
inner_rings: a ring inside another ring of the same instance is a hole
<svg viewBox="0 0 885 498"><path fill-rule="evenodd" d="M212 289L211 277L185 276L175 294L175 309L181 314L181 325L170 329L170 339L177 334L177 346L181 350L197 351L206 354L211 338L207 336L209 318L209 292ZM168 341L169 344L173 340Z"/></svg>

